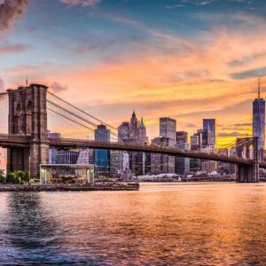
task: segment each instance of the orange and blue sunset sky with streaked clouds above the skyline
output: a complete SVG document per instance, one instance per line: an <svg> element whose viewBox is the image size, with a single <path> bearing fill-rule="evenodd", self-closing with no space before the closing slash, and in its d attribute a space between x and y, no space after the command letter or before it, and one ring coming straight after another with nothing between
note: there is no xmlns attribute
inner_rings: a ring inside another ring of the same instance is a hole
<svg viewBox="0 0 266 266"><path fill-rule="evenodd" d="M190 134L215 118L218 143L251 134L266 85L265 0L0 0L0 87L41 82L118 126L133 106Z"/></svg>

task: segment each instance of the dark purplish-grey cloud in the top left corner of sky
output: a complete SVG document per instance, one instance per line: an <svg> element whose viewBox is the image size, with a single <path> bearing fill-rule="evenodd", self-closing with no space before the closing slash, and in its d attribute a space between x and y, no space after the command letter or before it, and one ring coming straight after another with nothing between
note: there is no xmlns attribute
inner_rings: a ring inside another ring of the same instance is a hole
<svg viewBox="0 0 266 266"><path fill-rule="evenodd" d="M28 0L4 0L0 4L0 30L9 29L24 13Z"/></svg>

